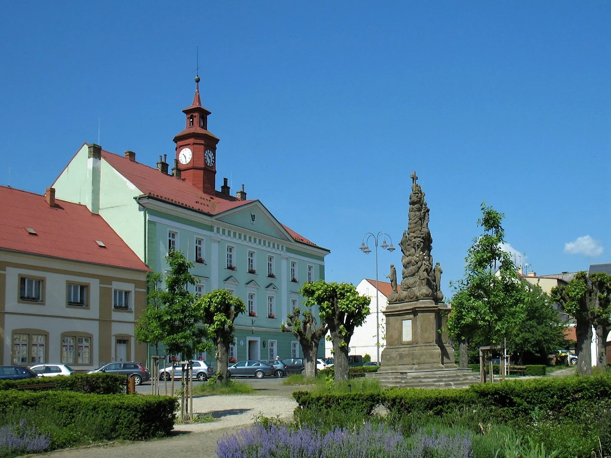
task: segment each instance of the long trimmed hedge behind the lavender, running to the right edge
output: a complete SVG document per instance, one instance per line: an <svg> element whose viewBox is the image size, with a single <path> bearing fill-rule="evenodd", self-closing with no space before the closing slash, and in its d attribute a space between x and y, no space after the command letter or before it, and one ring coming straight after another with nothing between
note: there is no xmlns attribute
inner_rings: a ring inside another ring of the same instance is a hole
<svg viewBox="0 0 611 458"><path fill-rule="evenodd" d="M458 409L496 409L507 418L529 415L535 409L570 415L611 403L610 376L562 379L506 380L456 390L393 388L379 393L293 393L301 409L362 409L371 414L378 405L397 413L445 415Z"/></svg>

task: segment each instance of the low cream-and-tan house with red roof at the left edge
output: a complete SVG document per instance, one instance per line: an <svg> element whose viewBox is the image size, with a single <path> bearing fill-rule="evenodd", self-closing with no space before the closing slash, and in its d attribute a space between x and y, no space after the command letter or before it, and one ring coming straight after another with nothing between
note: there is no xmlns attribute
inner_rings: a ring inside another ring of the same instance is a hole
<svg viewBox="0 0 611 458"><path fill-rule="evenodd" d="M3 365L144 362L134 320L148 267L86 205L0 186Z"/></svg>

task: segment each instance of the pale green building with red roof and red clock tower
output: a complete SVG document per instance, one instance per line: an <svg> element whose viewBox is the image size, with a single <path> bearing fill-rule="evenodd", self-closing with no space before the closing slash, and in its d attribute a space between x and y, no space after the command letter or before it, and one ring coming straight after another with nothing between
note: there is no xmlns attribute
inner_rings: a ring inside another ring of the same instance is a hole
<svg viewBox="0 0 611 458"><path fill-rule="evenodd" d="M199 78L183 113L173 159L164 154L152 167L133 151L119 155L84 144L54 182L57 197L100 215L152 271L166 271L168 250L182 250L194 263L194 293L224 288L240 296L247 314L236 319L231 358L299 357L299 343L280 324L301 305L301 285L324 278L329 250L248 199L244 185L234 194L224 178L217 189L216 165L223 159L208 130Z"/></svg>

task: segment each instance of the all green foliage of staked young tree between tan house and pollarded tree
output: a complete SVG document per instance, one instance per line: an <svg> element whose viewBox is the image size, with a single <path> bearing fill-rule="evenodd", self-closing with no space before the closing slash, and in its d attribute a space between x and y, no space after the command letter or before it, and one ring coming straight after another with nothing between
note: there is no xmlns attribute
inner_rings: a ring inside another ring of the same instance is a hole
<svg viewBox="0 0 611 458"><path fill-rule="evenodd" d="M139 319L139 339L152 341L161 336L161 342L169 354L181 354L191 359L196 352L210 351L208 333L202 327L202 307L196 304L196 294L188 291L188 285L195 285L196 278L189 269L189 263L181 251L171 250L166 256L170 272L165 277L166 288L161 288L161 275L150 277L148 308L157 311L145 312ZM152 284L151 284L152 283Z"/></svg>

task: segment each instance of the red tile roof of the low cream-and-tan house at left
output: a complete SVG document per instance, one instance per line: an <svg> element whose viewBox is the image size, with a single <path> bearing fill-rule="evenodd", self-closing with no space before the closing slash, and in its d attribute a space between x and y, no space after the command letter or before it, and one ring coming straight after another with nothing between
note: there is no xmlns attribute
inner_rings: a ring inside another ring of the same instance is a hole
<svg viewBox="0 0 611 458"><path fill-rule="evenodd" d="M0 186L0 202L0 249L149 270L108 223L84 205L56 200L51 207L44 195L6 186Z"/></svg>

